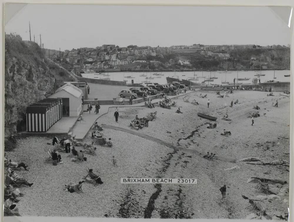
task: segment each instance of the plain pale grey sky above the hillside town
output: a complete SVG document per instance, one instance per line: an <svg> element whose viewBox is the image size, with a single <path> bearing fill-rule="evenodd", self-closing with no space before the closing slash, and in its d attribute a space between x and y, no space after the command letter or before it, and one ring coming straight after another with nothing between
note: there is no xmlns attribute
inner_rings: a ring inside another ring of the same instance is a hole
<svg viewBox="0 0 294 222"><path fill-rule="evenodd" d="M61 51L103 44L290 44L290 28L269 7L27 4L5 26Z"/></svg>

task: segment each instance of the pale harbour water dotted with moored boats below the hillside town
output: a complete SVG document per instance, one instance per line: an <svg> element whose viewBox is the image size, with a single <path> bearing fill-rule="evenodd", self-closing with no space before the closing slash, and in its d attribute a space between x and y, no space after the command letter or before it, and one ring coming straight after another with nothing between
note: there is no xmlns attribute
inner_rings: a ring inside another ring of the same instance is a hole
<svg viewBox="0 0 294 222"><path fill-rule="evenodd" d="M162 74L163 76L157 76L153 75L154 73ZM218 71L187 71L187 72L115 72L115 73L102 73L104 75L97 75L97 73L83 73L81 74L84 78L91 78L91 79L103 79L103 78L109 78L109 80L114 81L126 81L126 83L132 83L131 80L133 80L134 83L144 83L144 81L148 81L148 83L158 83L158 84L166 84L166 77L172 77L172 78L179 78L189 80L189 78L198 78L198 80L191 80L196 83L201 83L207 78L210 77L217 77L217 79L214 79L213 82L206 82L205 84L211 85L211 84L219 84L221 85L222 82L227 81L229 83L233 83L234 78L236 78L235 83L242 83L242 84L250 84L252 83L253 78L260 78L260 82L266 82L268 80L274 80L275 82L290 82L290 77L285 77L284 75L290 75L290 70L263 70L261 71L261 74L265 74L265 76L254 76L256 74L259 74L260 71L228 71L227 73L219 73ZM147 75L147 76L140 76L140 75ZM274 79L275 74L275 79ZM132 78L126 78L126 76L131 76ZM206 78L202 78L206 77ZM154 79L146 79L146 77L154 78ZM160 78L157 78L160 77ZM249 80L237 80L238 78L250 78ZM224 85L224 84L223 84Z"/></svg>

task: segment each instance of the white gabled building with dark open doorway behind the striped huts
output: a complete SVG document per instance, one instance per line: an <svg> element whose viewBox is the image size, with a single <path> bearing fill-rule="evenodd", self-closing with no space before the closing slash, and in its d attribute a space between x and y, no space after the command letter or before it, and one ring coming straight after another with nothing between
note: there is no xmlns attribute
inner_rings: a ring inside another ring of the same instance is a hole
<svg viewBox="0 0 294 222"><path fill-rule="evenodd" d="M82 111L83 91L71 83L61 86L49 98L62 99L64 116L77 117Z"/></svg>

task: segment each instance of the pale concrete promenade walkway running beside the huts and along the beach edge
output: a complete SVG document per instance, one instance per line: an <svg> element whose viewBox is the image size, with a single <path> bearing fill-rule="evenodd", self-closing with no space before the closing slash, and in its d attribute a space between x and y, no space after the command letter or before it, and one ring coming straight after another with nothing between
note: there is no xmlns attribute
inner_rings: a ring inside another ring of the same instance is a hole
<svg viewBox="0 0 294 222"><path fill-rule="evenodd" d="M186 92L186 94L182 93L180 95L175 95L175 96L168 96L171 99L177 98L177 97L181 97L184 95L188 95L192 92L195 91L188 91ZM162 99L153 99L152 100L152 104L161 101ZM127 103L127 102L126 102ZM145 102L141 102L141 103L137 103L137 104L133 104L133 105L100 105L100 110L98 114L95 114L95 108L93 107L91 113L89 114L89 112L83 112L83 120L81 122L77 122L74 129L72 130L72 135L76 135L76 139L79 141L83 141L83 139L86 137L86 135L88 134L88 132L92 129L93 127L93 123L96 122L96 120L101 117L102 115L108 113L108 111L113 111L114 113L114 109L115 107L138 107L138 106L144 106ZM111 110L111 107L113 107L113 110ZM84 105L83 107L84 110L87 110L87 105ZM152 109L150 109L150 111L152 111ZM98 124L99 121L97 120ZM106 124L106 123L104 123Z"/></svg>

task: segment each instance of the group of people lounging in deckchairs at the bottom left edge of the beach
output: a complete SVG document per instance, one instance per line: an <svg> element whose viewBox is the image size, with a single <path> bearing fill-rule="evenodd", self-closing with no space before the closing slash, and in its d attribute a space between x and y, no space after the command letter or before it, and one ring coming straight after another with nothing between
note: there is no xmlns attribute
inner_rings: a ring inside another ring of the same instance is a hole
<svg viewBox="0 0 294 222"><path fill-rule="evenodd" d="M19 210L16 208L16 203L20 201L18 197L22 197L24 194L21 193L19 188L22 185L31 187L33 183L26 181L26 179L17 174L14 169L21 169L21 167L23 167L24 170L28 171L28 166L23 162L13 162L8 158L6 152L4 152L4 167L6 167L4 182L4 216L20 216ZM18 188L14 188L14 186Z"/></svg>

